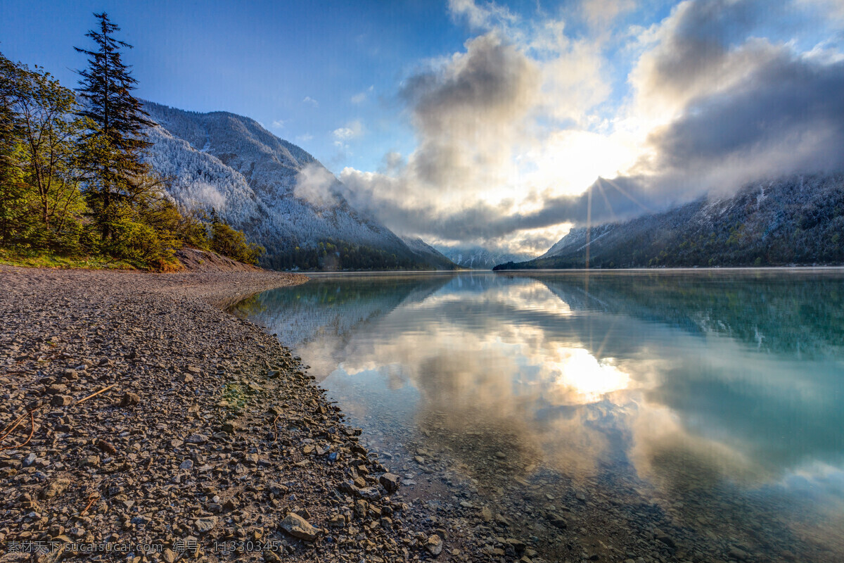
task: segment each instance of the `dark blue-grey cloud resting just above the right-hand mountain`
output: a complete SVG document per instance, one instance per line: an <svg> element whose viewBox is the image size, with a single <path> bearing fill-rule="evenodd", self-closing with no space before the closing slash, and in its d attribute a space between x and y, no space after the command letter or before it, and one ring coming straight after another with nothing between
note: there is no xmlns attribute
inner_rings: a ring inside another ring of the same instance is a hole
<svg viewBox="0 0 844 563"><path fill-rule="evenodd" d="M844 62L778 57L733 89L693 100L649 139L659 165L695 169L725 159L765 159L776 173L844 165ZM818 146L817 140L824 144ZM783 146L786 145L786 146ZM782 152L793 155L782 162ZM809 149L809 150L807 150Z"/></svg>

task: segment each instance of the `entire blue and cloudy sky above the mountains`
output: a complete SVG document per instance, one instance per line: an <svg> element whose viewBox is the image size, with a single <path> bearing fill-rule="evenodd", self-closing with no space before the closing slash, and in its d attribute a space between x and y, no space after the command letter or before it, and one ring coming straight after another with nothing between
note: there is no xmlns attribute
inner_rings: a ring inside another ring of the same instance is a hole
<svg viewBox="0 0 844 563"><path fill-rule="evenodd" d="M138 97L250 116L440 246L844 167L844 0L4 0L0 51L73 85L102 10Z"/></svg>

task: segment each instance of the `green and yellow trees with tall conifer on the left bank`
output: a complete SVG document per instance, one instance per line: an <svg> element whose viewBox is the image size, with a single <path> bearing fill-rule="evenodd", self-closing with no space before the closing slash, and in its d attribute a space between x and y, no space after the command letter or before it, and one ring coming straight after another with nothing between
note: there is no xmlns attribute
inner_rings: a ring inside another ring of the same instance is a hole
<svg viewBox="0 0 844 563"><path fill-rule="evenodd" d="M97 257L177 268L181 246L256 263L263 249L212 212L187 213L144 156L153 127L132 95L120 30L95 14L95 46L74 93L0 53L0 257Z"/></svg>

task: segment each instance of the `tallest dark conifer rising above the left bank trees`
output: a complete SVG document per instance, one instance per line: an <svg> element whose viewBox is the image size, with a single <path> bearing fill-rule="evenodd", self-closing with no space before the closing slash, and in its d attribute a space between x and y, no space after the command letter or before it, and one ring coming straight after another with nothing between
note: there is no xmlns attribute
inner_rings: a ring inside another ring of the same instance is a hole
<svg viewBox="0 0 844 563"><path fill-rule="evenodd" d="M78 115L88 118L92 126L80 139L80 153L89 173L89 207L106 241L127 192L138 186L138 176L149 172L143 155L151 143L144 128L154 122L147 119L149 114L131 94L137 81L122 62L121 50L132 46L114 38L120 28L111 23L108 14L94 15L99 30L89 30L85 36L94 40L96 50L74 48L88 56L88 68L78 71L82 79L77 91L84 99L84 109Z"/></svg>

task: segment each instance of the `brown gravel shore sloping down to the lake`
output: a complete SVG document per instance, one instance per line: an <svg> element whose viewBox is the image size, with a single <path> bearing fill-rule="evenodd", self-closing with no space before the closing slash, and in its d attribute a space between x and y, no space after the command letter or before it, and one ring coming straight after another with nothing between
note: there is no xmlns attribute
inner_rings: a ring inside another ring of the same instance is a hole
<svg viewBox="0 0 844 563"><path fill-rule="evenodd" d="M220 308L305 281L0 267L0 560L440 555L308 366Z"/></svg>

